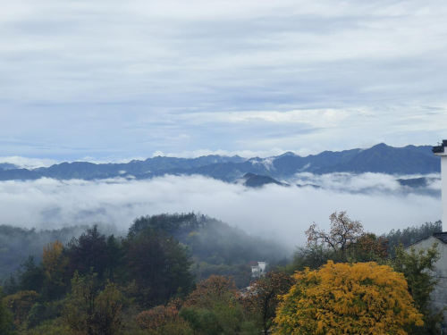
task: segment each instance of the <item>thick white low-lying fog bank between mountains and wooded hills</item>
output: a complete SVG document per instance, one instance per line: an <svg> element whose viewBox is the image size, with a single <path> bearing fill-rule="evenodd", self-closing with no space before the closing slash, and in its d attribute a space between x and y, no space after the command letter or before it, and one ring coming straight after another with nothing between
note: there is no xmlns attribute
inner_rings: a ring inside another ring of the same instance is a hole
<svg viewBox="0 0 447 335"><path fill-rule="evenodd" d="M194 211L292 247L305 243L304 231L312 222L327 228L334 211L348 211L379 234L441 219L439 180L429 183L426 193L409 192L396 177L375 173L307 173L288 181L323 188L255 189L202 176L2 181L0 224L46 229L104 222L127 230L140 215Z"/></svg>

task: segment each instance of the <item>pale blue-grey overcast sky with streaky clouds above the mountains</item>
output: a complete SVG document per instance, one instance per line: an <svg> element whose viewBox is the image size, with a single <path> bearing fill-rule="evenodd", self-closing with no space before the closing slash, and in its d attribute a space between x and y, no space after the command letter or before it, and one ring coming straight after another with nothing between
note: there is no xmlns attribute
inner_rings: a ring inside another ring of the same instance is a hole
<svg viewBox="0 0 447 335"><path fill-rule="evenodd" d="M447 138L447 3L0 0L0 156Z"/></svg>

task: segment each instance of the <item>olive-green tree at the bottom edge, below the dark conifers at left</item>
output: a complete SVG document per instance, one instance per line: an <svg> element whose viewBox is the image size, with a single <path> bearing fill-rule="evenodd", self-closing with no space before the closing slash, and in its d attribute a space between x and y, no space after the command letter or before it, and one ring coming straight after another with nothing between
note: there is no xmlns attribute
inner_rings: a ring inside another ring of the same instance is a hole
<svg viewBox="0 0 447 335"><path fill-rule="evenodd" d="M71 331L86 335L114 335L121 330L121 293L108 282L100 290L97 273L81 277L75 272L72 292L67 297L63 322Z"/></svg>

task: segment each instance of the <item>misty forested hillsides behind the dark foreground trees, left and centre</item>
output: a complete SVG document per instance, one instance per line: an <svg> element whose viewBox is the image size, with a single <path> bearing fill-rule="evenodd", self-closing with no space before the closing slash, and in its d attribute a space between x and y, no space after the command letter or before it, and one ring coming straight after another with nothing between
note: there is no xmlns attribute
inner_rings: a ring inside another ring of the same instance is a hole
<svg viewBox="0 0 447 335"><path fill-rule="evenodd" d="M6 279L16 272L19 264L27 261L29 255L38 264L47 243L59 240L63 245L70 244L72 237L79 237L88 229L88 226L74 226L60 230L26 230L0 226L0 279ZM117 243L126 240L126 237L116 236L111 226L103 225L97 229L105 231L107 239L114 233ZM191 272L198 280L211 274L232 275L239 287L249 283L250 262L268 260L275 263L291 254L291 250L274 241L250 236L243 230L205 215L191 213L141 217L133 222L127 238L143 230L173 236L187 247L194 261Z"/></svg>

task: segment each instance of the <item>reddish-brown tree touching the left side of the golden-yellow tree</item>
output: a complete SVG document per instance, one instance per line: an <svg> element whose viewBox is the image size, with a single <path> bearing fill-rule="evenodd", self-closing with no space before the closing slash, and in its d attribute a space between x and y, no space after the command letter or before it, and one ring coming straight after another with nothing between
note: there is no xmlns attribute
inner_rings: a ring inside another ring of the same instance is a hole
<svg viewBox="0 0 447 335"><path fill-rule="evenodd" d="M261 323L265 334L269 333L279 297L286 294L293 279L284 272L267 272L266 277L252 281L248 292L240 297L242 306Z"/></svg>

